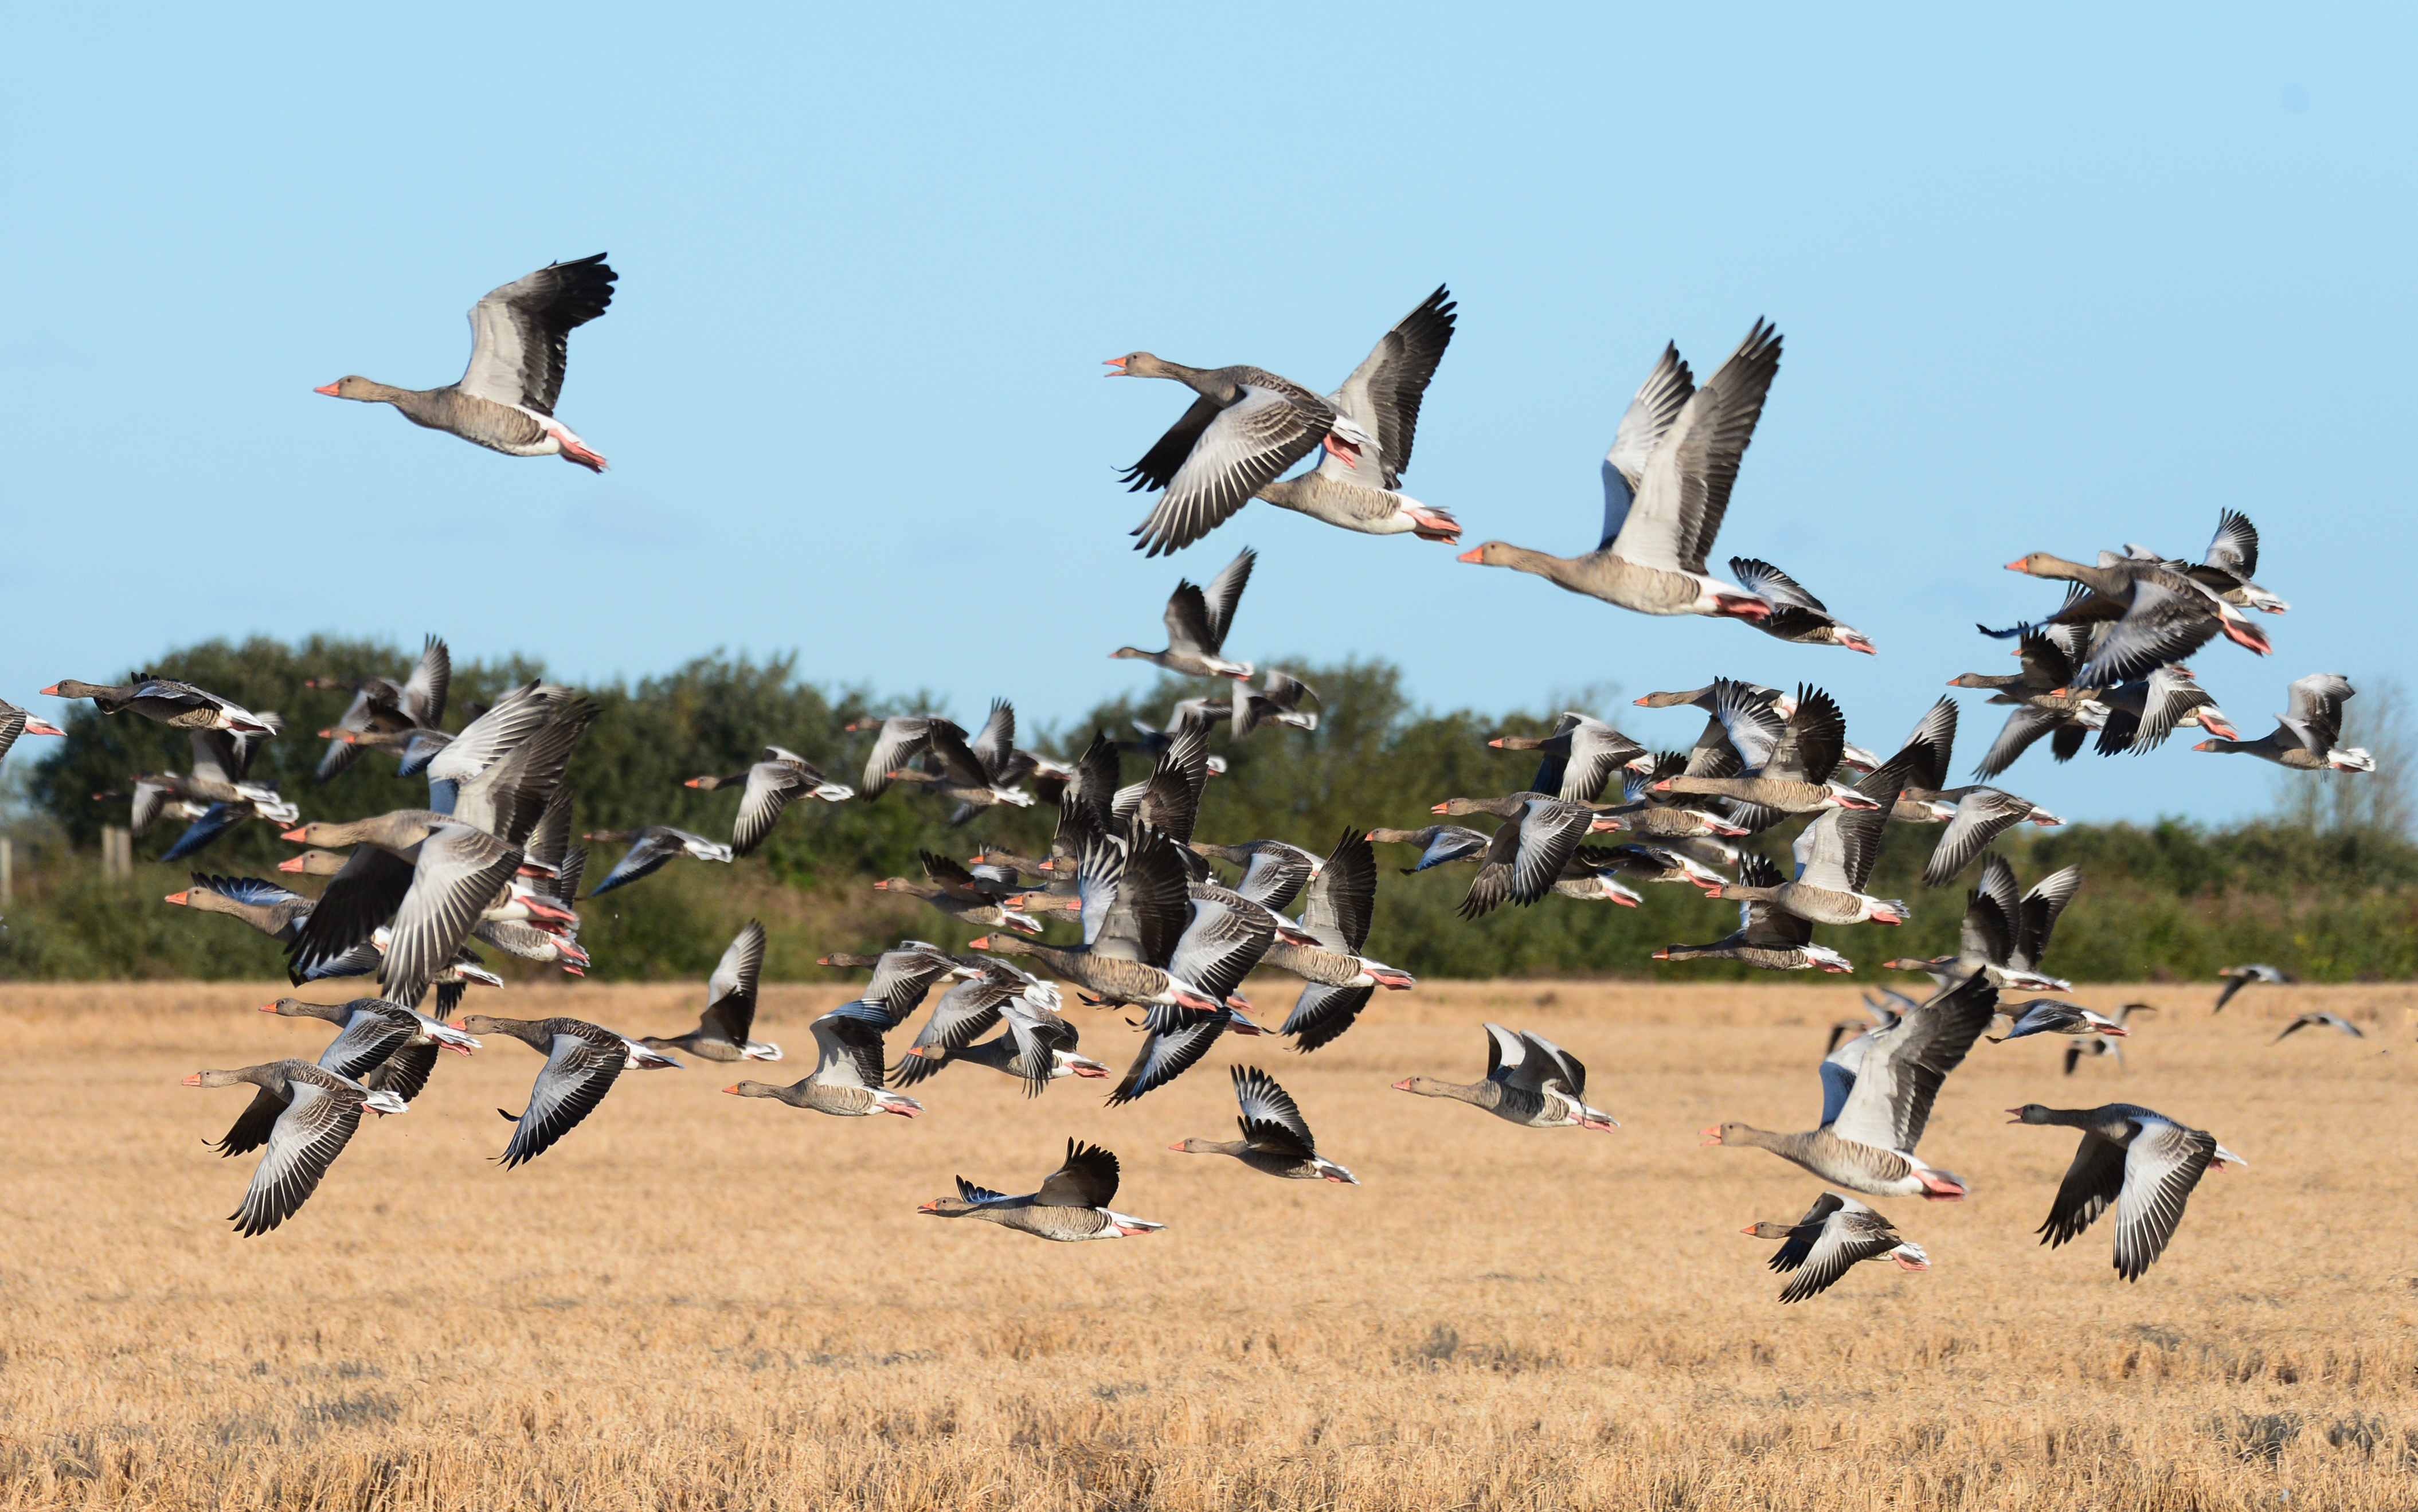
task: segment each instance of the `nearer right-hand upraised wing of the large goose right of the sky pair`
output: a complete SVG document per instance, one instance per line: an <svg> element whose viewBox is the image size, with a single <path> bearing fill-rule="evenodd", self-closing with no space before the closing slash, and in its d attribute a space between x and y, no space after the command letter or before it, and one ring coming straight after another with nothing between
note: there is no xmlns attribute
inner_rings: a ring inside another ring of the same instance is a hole
<svg viewBox="0 0 2418 1512"><path fill-rule="evenodd" d="M1755 322L1712 380L1688 397L1647 460L1613 554L1666 571L1705 571L1705 552L1722 532L1739 460L1755 435L1777 373L1780 331L1770 322Z"/></svg>

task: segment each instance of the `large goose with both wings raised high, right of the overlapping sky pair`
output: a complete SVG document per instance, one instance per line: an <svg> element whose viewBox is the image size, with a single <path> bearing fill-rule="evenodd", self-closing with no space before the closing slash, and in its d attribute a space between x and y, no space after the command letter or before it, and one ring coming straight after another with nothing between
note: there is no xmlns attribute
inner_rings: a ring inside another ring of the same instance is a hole
<svg viewBox="0 0 2418 1512"><path fill-rule="evenodd" d="M1770 619L1770 600L1705 576L1705 552L1722 532L1739 457L1777 373L1780 331L1765 322L1693 392L1678 348L1666 346L1603 457L1603 542L1584 556L1485 542L1460 561L1538 573L1639 614Z"/></svg>

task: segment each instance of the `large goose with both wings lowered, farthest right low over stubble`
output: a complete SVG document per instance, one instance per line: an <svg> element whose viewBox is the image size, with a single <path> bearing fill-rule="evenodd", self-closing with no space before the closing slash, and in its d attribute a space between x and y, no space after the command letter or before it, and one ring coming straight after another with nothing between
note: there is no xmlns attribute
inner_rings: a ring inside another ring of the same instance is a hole
<svg viewBox="0 0 2418 1512"><path fill-rule="evenodd" d="M2075 1164L2065 1168L2058 1198L2041 1224L2041 1243L2058 1248L2077 1239L2092 1222L2116 1207L2116 1275L2138 1282L2167 1253L2174 1227L2183 1222L2183 1202L2212 1166L2246 1166L2239 1154L2217 1144L2205 1130L2186 1127L2164 1113L2133 1103L2101 1108L2043 1108L2024 1103L2007 1108L2009 1123L2058 1125L2082 1130Z"/></svg>

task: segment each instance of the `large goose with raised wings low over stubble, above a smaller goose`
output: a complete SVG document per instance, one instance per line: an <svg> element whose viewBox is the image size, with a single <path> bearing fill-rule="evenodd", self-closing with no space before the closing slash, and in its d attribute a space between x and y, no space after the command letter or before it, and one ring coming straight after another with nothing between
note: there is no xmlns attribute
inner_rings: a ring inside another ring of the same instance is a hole
<svg viewBox="0 0 2418 1512"><path fill-rule="evenodd" d="M1915 1156L1932 1101L1973 1040L1990 1028L1997 989L1973 977L1893 1028L1857 1035L1821 1062L1821 1127L1772 1135L1743 1123L1705 1130L1705 1144L1770 1149L1814 1176L1872 1198L1956 1202L1966 1183Z"/></svg>

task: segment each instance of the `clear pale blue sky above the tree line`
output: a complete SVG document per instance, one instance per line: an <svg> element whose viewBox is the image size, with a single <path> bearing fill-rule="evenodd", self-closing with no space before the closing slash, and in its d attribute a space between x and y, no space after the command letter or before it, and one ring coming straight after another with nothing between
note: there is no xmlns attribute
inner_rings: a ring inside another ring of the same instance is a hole
<svg viewBox="0 0 2418 1512"><path fill-rule="evenodd" d="M1386 656L1436 706L1821 682L1893 745L2000 564L2266 535L2278 653L2196 660L2246 733L2401 675L2408 10L48 7L0 56L0 694L314 629L566 675L788 651L827 682L1069 719L1149 675L1175 578L1262 552L1231 651ZM462 312L609 252L561 416L614 469L312 394L459 375ZM1460 331L1405 486L1468 539L1593 544L1666 339L1787 358L1717 556L1881 646L1656 622L1412 537L1248 508L1173 561L1115 472L1180 414L1151 348L1332 387L1436 283ZM2401 435L2403 440L2394 440ZM1978 699L1976 694L1966 694ZM1630 711L1678 743L1693 716ZM1968 709L1959 764L1995 711ZM774 735L767 731L767 735ZM2077 818L2266 806L2188 752L2026 757Z"/></svg>

